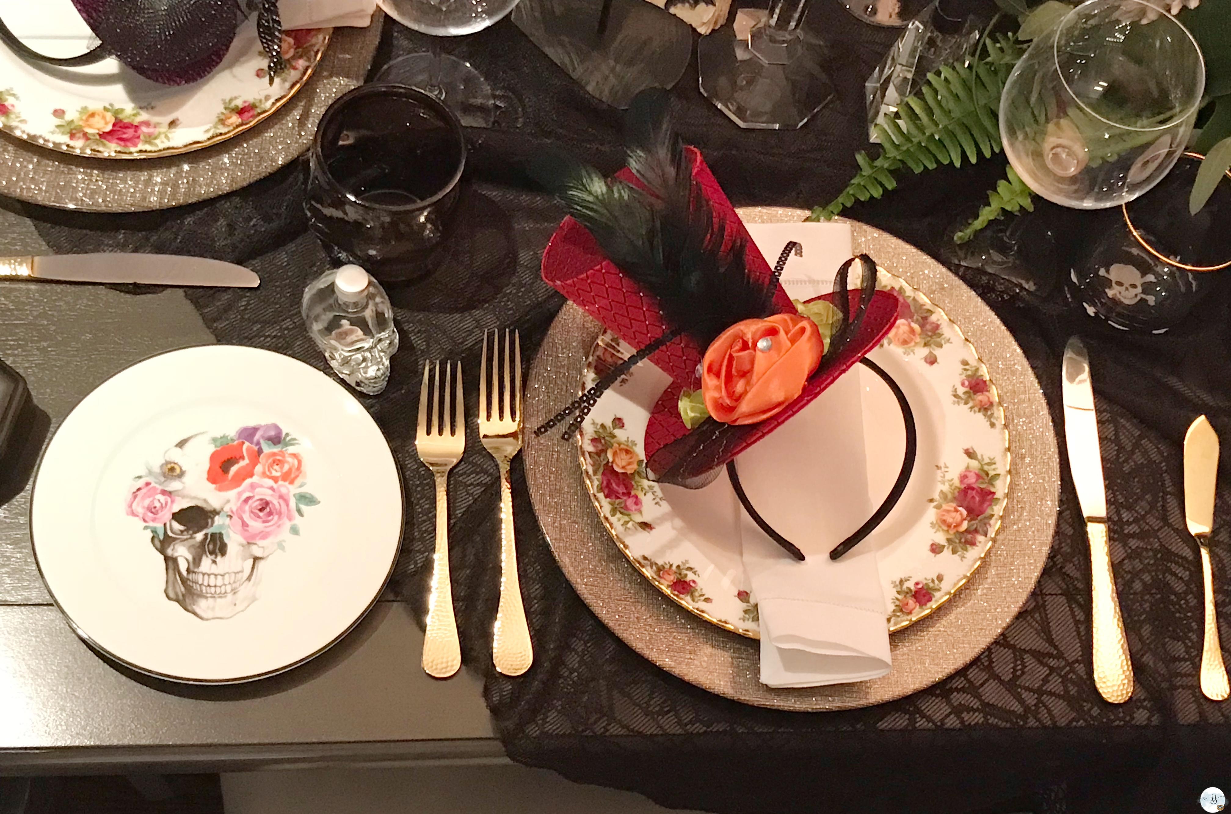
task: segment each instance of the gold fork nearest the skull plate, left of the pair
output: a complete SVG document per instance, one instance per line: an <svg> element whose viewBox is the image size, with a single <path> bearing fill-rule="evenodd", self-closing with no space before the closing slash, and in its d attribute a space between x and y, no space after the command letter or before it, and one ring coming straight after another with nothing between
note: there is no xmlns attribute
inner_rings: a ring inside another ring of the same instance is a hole
<svg viewBox="0 0 1231 814"><path fill-rule="evenodd" d="M453 587L449 582L449 469L465 452L465 408L462 400L462 363L457 366L457 395L453 399L453 425L449 426L449 392L453 366L444 363L444 387L441 387L441 363L436 362L435 400L427 400L427 382L432 362L423 365L423 387L419 392L419 432L415 449L436 477L436 557L432 563L432 585L427 597L427 633L423 637L423 671L437 679L448 679L462 666L462 644L453 617Z"/></svg>

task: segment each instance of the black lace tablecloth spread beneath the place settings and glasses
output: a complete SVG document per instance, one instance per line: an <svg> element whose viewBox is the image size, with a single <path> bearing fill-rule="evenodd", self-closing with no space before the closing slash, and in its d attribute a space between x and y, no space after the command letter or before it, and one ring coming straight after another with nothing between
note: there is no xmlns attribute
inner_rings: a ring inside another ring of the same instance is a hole
<svg viewBox="0 0 1231 814"><path fill-rule="evenodd" d="M581 0L579 0L581 1ZM862 85L894 32L858 23L836 0L811 22L832 43L838 101L800 132L735 128L697 91L676 87L681 129L737 204L811 206L837 193L863 147ZM377 64L426 41L387 25ZM363 398L403 467L409 498L431 505L414 457L422 360L460 358L474 399L480 331L516 325L533 351L561 299L538 278L560 219L518 171L545 144L604 170L620 159L620 115L587 97L510 22L442 41L521 102L519 122L471 131L469 187L451 254L427 282L391 289L403 350L389 389ZM885 199L849 214L936 252L1003 172L998 161L902 177ZM307 233L299 163L238 193L167 212L90 216L5 202L34 220L55 251L198 254L249 265L256 291L188 297L219 341L289 353L327 369L299 320L304 284L326 267ZM1071 217L1082 217L1072 213ZM1198 690L1200 565L1184 533L1181 442L1199 413L1231 437L1231 329L1226 286L1165 336L1105 328L1062 293L1029 294L956 270L1017 336L1059 421L1059 357L1083 332L1094 366L1115 574L1136 667L1134 698L1104 703L1089 665L1088 553L1067 468L1051 557L1018 618L972 664L901 701L836 713L745 707L659 670L612 635L551 559L515 468L522 587L535 663L494 674L490 626L499 570L496 468L471 449L452 480L453 584L465 663L486 676L486 701L508 754L583 782L641 792L665 805L718 812L1184 812L1206 786L1231 786L1231 706ZM1225 281L1220 281L1225 282ZM1059 289L1057 289L1059 291ZM529 361L527 353L527 363ZM1062 448L1062 445L1061 445ZM1231 456L1224 456L1226 462ZM1231 470L1225 465L1224 482ZM1217 514L1231 517L1231 486ZM393 590L422 611L432 514L415 512ZM1231 608L1225 526L1215 532L1220 601ZM992 554L995 555L995 553Z"/></svg>

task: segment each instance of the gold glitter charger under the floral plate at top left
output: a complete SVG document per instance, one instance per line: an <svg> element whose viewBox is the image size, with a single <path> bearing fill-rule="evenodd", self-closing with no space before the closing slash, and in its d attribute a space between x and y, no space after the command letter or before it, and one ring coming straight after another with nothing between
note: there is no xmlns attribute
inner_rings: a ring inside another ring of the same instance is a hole
<svg viewBox="0 0 1231 814"><path fill-rule="evenodd" d="M382 20L377 12L366 28L335 28L310 78L281 99L277 110L251 128L240 132L236 126L224 140L191 153L116 161L0 133L0 195L64 209L144 212L243 188L303 154L330 102L363 83Z"/></svg>

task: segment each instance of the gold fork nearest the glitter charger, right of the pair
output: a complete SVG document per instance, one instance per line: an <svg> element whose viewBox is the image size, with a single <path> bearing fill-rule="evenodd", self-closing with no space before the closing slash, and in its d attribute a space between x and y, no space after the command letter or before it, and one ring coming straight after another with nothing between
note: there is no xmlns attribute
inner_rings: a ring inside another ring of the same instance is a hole
<svg viewBox="0 0 1231 814"><path fill-rule="evenodd" d="M487 341L487 334L494 334ZM487 346L491 345L492 365L487 365ZM503 346L503 366L500 351ZM510 358L512 350L512 358ZM487 385L491 384L491 404L487 404ZM483 447L500 465L500 608L496 611L495 635L491 656L496 670L506 676L519 676L529 670L534 660L531 629L526 623L522 606L522 589L517 580L517 546L513 541L513 490L508 483L508 462L522 448L522 340L505 330L501 345L500 331L483 332L483 372L479 376L479 437Z"/></svg>

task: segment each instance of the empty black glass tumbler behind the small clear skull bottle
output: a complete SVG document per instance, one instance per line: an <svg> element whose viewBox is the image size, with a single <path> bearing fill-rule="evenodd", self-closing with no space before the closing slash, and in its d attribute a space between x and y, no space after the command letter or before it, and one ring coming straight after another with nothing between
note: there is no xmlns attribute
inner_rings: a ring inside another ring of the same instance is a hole
<svg viewBox="0 0 1231 814"><path fill-rule="evenodd" d="M340 262L400 281L431 268L465 166L462 123L405 85L362 85L320 119L304 208Z"/></svg>

